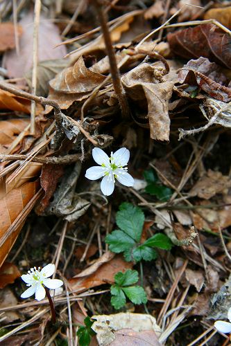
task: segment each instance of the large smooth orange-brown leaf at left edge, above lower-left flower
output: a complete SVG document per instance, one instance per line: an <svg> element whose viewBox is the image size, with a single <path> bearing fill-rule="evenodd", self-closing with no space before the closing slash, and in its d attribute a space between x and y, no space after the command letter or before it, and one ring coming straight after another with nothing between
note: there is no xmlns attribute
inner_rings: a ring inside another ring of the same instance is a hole
<svg viewBox="0 0 231 346"><path fill-rule="evenodd" d="M37 190L37 182L25 183L8 192L0 201L0 266L15 244L26 216L40 197L40 194L36 194Z"/></svg>

